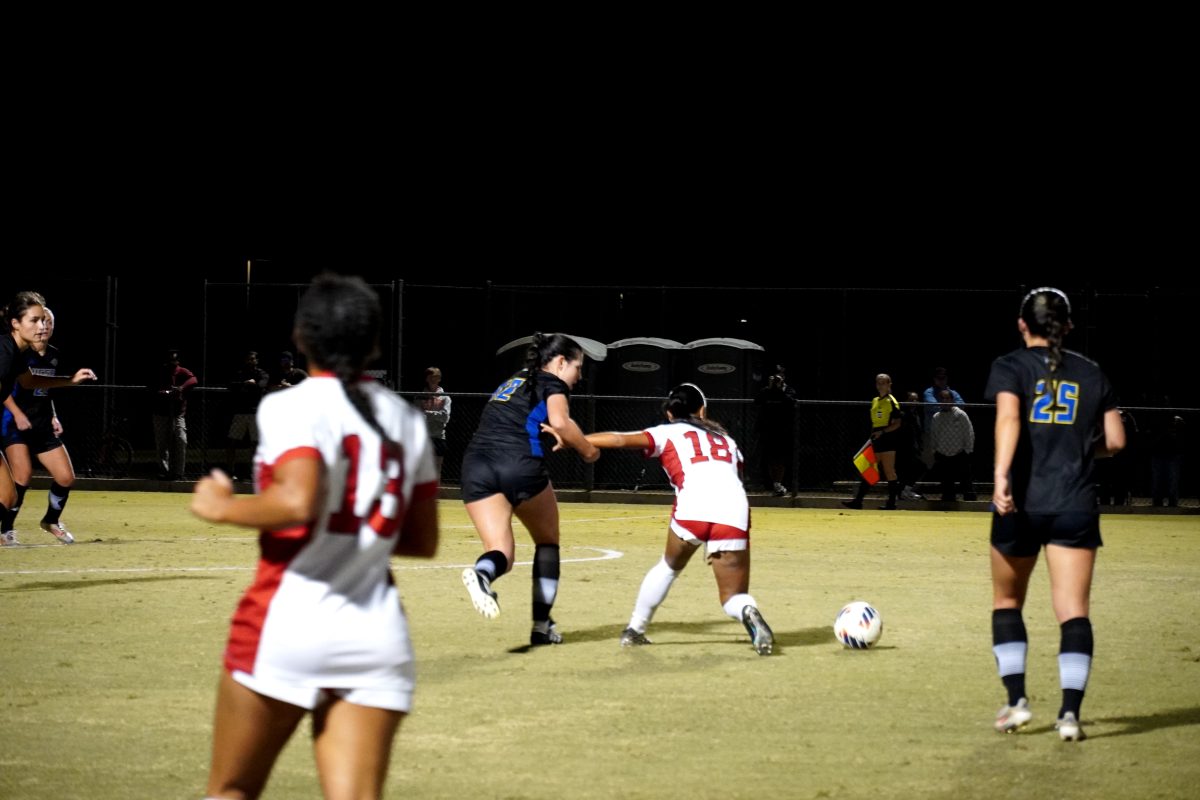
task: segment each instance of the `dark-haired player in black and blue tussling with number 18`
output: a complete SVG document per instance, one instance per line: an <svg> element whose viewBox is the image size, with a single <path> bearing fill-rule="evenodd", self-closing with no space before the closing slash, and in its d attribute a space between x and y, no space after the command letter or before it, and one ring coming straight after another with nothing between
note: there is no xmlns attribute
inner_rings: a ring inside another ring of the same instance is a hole
<svg viewBox="0 0 1200 800"><path fill-rule="evenodd" d="M512 569L516 542L512 515L533 537L533 632L530 644L557 644L550 609L558 593L558 500L545 456L554 438L548 425L584 462L600 451L571 419L571 386L583 374L583 349L574 339L535 333L526 368L497 389L484 408L479 428L462 459L462 500L484 542L484 554L462 582L472 603L488 619L500 613L492 583Z"/></svg>

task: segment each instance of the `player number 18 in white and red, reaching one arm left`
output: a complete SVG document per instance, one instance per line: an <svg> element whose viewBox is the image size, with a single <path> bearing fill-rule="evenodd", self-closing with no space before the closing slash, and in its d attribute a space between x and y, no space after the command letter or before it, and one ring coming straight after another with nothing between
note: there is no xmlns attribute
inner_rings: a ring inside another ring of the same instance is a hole
<svg viewBox="0 0 1200 800"><path fill-rule="evenodd" d="M588 437L600 449L637 447L648 458L658 457L676 491L666 551L642 579L620 644L650 643L646 626L692 553L703 545L725 613L745 625L758 655L769 655L774 636L749 594L750 504L742 486L742 451L720 425L708 419L704 393L692 384L671 390L666 415L668 422L641 433Z"/></svg>

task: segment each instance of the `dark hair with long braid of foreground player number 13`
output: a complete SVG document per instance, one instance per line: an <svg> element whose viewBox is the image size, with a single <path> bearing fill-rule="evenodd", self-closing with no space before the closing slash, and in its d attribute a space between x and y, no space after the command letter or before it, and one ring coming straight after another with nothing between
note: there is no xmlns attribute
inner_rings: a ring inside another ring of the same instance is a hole
<svg viewBox="0 0 1200 800"><path fill-rule="evenodd" d="M318 367L337 377L350 405L386 446L392 441L359 384L366 365L379 353L382 318L379 297L362 278L326 272L313 278L300 299L295 336Z"/></svg>

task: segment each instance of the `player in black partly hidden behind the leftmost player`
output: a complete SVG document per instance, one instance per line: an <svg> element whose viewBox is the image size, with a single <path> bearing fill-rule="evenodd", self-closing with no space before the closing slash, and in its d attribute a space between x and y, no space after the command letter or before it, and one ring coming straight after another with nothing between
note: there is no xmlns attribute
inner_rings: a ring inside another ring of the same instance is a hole
<svg viewBox="0 0 1200 800"><path fill-rule="evenodd" d="M54 375L60 366L59 350L50 344L54 336L54 313L44 309L46 332L28 350L25 363L35 375ZM50 497L42 517L42 530L53 535L64 545L74 542L74 536L62 524L62 510L67 505L71 486L74 483L74 468L71 456L62 444L62 425L54 413L54 401L47 389L24 389L17 386L13 393L5 398L4 421L0 422L0 438L4 443L4 455L12 469L12 479L17 486L17 503L0 519L0 530L16 536L17 515L25 498L29 481L34 476L32 455L37 455L46 471L50 474Z"/></svg>

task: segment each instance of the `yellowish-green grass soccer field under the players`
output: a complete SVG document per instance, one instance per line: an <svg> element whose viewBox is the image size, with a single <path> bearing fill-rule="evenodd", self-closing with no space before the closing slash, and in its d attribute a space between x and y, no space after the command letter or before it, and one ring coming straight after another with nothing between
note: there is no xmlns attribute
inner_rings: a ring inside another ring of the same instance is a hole
<svg viewBox="0 0 1200 800"><path fill-rule="evenodd" d="M30 494L26 519L43 499ZM203 795L221 652L257 545L186 504L78 492L66 516L78 545L35 530L23 540L46 547L0 551L0 799ZM1195 517L1104 519L1090 739L1063 744L1043 567L1026 609L1036 716L1021 734L991 729L1003 691L986 516L756 509L751 591L778 655L754 652L698 559L650 626L654 645L622 650L667 510L564 505L554 616L566 643L526 651L528 565L498 582L500 618L480 618L458 579L478 540L461 504L442 504L434 561L396 563L419 688L389 796L1198 795ZM865 652L830 630L856 599L884 620ZM320 796L304 734L264 796Z"/></svg>

